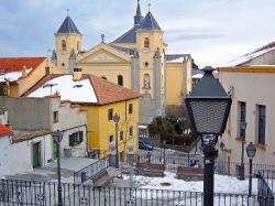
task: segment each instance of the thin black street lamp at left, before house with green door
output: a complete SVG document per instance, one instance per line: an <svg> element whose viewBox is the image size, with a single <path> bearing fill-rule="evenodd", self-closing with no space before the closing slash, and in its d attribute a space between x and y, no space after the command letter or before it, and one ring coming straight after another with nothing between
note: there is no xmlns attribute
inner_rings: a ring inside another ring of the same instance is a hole
<svg viewBox="0 0 275 206"><path fill-rule="evenodd" d="M63 139L63 132L59 130L56 130L53 132L53 140L57 143L57 177L58 177L58 206L63 206L63 199L62 199L62 181L61 181L61 141Z"/></svg>

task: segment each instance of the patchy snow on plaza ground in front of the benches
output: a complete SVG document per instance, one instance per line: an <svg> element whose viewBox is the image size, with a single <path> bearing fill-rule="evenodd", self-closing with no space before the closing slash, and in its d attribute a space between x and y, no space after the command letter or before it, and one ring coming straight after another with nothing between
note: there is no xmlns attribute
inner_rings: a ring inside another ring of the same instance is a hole
<svg viewBox="0 0 275 206"><path fill-rule="evenodd" d="M131 185L141 188L132 194L133 199L143 199L145 203L154 200L158 203L161 199L167 205L176 206L202 205L204 181L178 180L176 174L170 172L165 172L164 177L124 176L124 181L130 181ZM170 183L170 186L162 186L161 183ZM256 194L256 183L254 178L253 194ZM248 191L249 178L239 181L233 176L215 175L213 205L246 205Z"/></svg>

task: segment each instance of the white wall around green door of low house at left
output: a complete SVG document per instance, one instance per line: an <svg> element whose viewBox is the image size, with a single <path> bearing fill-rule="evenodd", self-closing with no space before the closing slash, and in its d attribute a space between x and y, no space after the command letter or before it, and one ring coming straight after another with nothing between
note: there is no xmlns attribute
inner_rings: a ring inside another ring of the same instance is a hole
<svg viewBox="0 0 275 206"><path fill-rule="evenodd" d="M10 143L8 137L0 138L0 176L32 171L32 144L41 142L41 164L52 159L51 134L18 143Z"/></svg>

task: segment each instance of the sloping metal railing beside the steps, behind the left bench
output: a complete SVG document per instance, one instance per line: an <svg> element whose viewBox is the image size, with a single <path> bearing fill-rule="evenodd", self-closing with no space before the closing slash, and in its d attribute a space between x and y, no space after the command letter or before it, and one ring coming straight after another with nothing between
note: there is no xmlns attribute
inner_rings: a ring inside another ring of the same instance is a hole
<svg viewBox="0 0 275 206"><path fill-rule="evenodd" d="M81 184L88 178L95 176L100 171L108 169L110 166L109 163L109 155L99 159L97 162L77 171L74 172L74 184Z"/></svg>

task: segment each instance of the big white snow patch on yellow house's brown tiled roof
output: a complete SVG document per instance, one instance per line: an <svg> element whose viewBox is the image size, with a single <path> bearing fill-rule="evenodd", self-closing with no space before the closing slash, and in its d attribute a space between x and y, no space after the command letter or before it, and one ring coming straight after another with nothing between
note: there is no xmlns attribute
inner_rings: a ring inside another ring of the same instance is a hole
<svg viewBox="0 0 275 206"><path fill-rule="evenodd" d="M45 97L58 93L61 99L76 102L97 102L96 93L89 79L74 82L73 75L63 75L48 80L28 97Z"/></svg>

